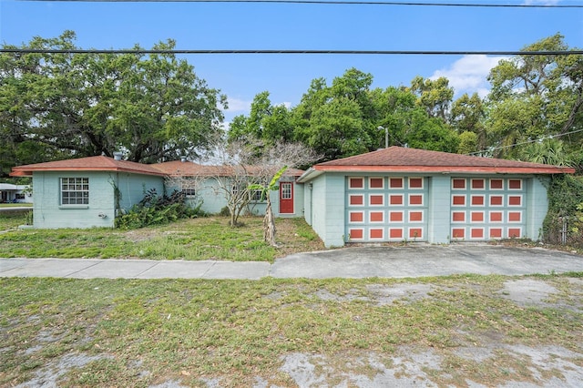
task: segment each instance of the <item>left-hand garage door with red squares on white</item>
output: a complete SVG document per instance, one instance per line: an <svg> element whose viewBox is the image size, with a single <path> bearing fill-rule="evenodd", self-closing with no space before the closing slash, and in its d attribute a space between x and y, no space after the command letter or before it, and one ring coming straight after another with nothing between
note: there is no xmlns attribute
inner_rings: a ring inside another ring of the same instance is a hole
<svg viewBox="0 0 583 388"><path fill-rule="evenodd" d="M345 240L427 240L427 184L423 177L346 179Z"/></svg>

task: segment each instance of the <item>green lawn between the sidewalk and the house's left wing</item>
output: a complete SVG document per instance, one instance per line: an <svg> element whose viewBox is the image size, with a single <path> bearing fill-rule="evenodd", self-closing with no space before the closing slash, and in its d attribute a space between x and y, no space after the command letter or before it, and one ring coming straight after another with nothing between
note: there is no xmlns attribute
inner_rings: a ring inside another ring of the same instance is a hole
<svg viewBox="0 0 583 388"><path fill-rule="evenodd" d="M272 261L322 241L300 219L277 220L281 249L263 242L262 218L241 219L230 228L222 217L180 220L139 230L15 230L24 216L0 214L0 257L142 258L152 260ZM12 228L12 230L10 230Z"/></svg>

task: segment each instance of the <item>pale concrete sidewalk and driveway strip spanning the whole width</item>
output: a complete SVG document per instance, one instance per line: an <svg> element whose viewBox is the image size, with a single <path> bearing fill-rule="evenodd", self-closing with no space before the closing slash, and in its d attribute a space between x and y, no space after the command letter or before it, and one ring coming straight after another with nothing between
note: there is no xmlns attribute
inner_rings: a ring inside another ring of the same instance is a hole
<svg viewBox="0 0 583 388"><path fill-rule="evenodd" d="M275 260L185 261L0 259L0 277L250 279L416 278L460 273L526 275L583 271L583 256L541 248L486 244L353 247Z"/></svg>

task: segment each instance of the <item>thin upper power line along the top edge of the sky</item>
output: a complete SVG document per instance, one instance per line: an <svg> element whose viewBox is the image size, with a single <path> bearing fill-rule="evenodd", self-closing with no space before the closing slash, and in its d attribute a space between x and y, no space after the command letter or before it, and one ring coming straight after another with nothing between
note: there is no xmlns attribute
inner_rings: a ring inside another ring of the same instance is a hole
<svg viewBox="0 0 583 388"><path fill-rule="evenodd" d="M25 0L43 2L48 0ZM399 6L455 6L481 8L583 8L583 5L543 5L543 4L476 4L476 3L418 3L391 1L335 1L335 0L56 0L57 3L273 3L273 4L316 4L316 5L399 5Z"/></svg>

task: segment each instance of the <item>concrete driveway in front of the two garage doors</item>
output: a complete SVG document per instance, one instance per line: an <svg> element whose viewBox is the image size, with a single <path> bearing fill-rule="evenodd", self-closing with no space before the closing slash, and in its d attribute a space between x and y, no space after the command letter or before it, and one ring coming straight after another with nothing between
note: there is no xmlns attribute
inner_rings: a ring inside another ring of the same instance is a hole
<svg viewBox="0 0 583 388"><path fill-rule="evenodd" d="M487 244L353 247L276 260L276 278L407 278L459 273L526 275L583 271L583 256L542 248Z"/></svg>

